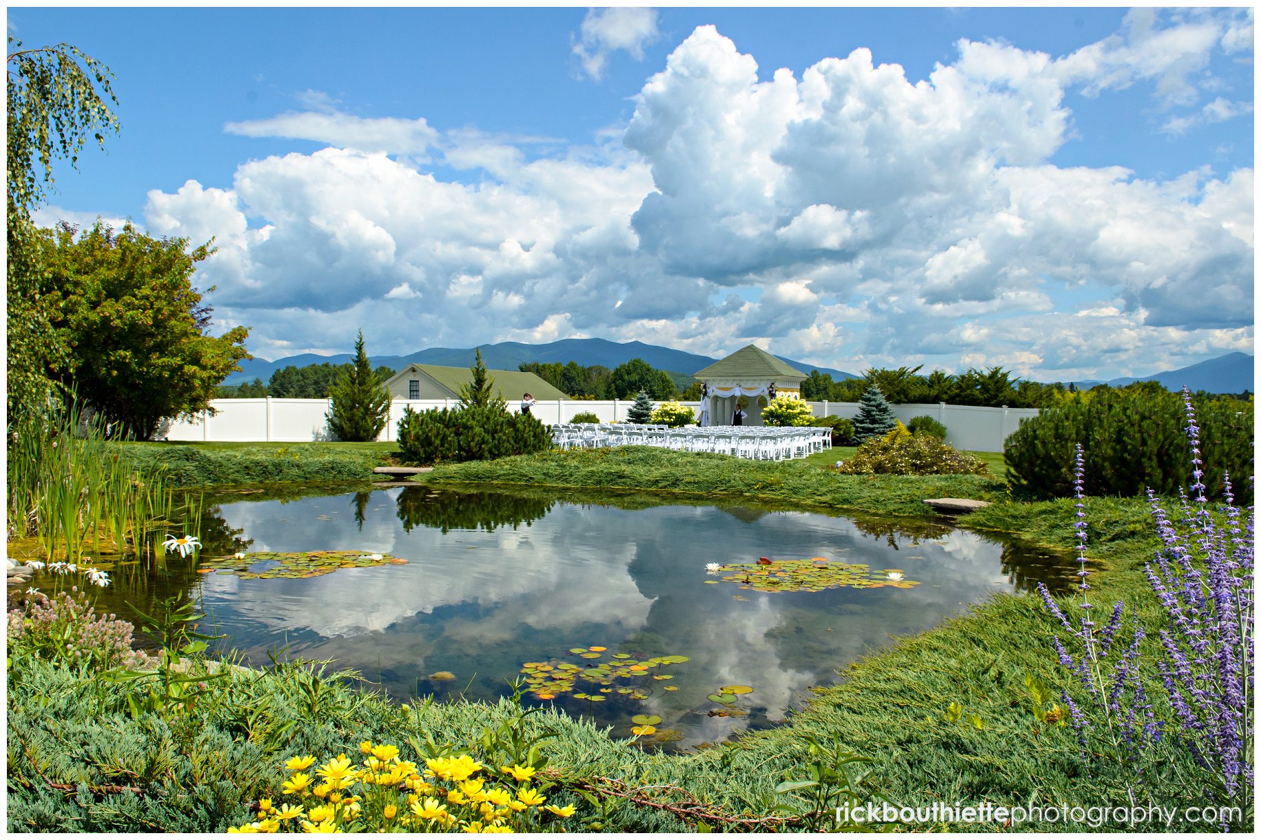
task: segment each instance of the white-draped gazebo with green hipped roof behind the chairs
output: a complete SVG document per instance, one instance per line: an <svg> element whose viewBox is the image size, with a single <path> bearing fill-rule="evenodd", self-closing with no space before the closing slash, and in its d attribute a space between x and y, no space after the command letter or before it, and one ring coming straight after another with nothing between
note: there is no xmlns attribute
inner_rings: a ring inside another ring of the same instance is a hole
<svg viewBox="0 0 1261 840"><path fill-rule="evenodd" d="M701 381L701 425L731 425L739 399L748 397L747 426L760 426L763 400L776 396L801 399L806 375L760 347L749 344L724 359L692 373ZM762 397L763 400L759 400Z"/></svg>

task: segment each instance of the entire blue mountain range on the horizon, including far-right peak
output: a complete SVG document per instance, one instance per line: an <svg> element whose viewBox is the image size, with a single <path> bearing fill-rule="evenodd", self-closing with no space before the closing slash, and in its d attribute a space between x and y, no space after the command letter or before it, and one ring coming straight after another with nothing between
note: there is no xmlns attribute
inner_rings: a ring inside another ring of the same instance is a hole
<svg viewBox="0 0 1261 840"><path fill-rule="evenodd" d="M614 368L633 358L642 358L657 370L691 375L718 361L709 356L699 356L657 344L644 344L643 342L619 344L603 338L564 338L550 344L501 342L498 344L482 344L477 348L429 347L407 356L375 356L372 357L372 366L385 365L396 371L412 362L468 367L473 363L474 349L482 351L482 361L488 368L499 371L514 371L522 362L560 362L564 365L570 361L583 366L603 365L604 367ZM322 365L324 362L342 365L349 362L352 358L351 353L337 353L334 356L301 353L299 356L277 358L274 362L264 358L253 358L241 362L241 371L224 378L223 385L238 385L255 378L266 382L275 371L290 365L295 367ZM777 358L783 359L803 373L817 370L820 373L830 373L835 381L856 378L856 375L836 368L796 362L786 356L778 356ZM1108 380L1106 383L1120 387L1140 381L1160 382L1170 391L1177 391L1183 385L1188 386L1192 391L1209 391L1212 394L1252 391L1255 387L1253 357L1248 353L1227 353L1218 358L1188 365L1173 371L1161 371L1150 376L1124 376ZM1097 380L1088 380L1078 381L1077 386L1088 388L1101 383Z"/></svg>

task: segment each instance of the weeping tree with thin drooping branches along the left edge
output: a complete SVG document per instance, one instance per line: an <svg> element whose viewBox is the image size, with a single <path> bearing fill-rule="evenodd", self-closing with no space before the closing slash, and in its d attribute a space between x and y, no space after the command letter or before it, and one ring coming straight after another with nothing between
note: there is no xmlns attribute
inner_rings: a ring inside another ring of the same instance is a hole
<svg viewBox="0 0 1261 840"><path fill-rule="evenodd" d="M10 423L55 388L48 376L63 366L67 348L53 329L43 247L30 213L53 184L53 160L78 161L87 137L105 148L119 130L106 100L117 105L110 69L69 44L23 49L9 38L6 59L6 329Z"/></svg>

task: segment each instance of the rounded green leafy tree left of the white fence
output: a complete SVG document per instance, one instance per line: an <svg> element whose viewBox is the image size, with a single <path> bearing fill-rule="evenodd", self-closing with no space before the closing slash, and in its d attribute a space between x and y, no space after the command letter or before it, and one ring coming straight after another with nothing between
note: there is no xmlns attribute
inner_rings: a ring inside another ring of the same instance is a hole
<svg viewBox="0 0 1261 840"><path fill-rule="evenodd" d="M155 240L130 223L121 233L97 221L78 238L62 225L42 231L53 328L69 348L57 378L107 423L140 440L163 417L209 407L217 385L248 358L250 330L207 334L211 308L192 285L213 251L188 240Z"/></svg>

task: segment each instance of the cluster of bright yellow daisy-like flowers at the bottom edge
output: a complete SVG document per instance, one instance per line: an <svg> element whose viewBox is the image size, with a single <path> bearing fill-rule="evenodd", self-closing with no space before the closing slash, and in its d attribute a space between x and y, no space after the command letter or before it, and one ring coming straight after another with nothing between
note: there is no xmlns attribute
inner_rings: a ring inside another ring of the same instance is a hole
<svg viewBox="0 0 1261 840"><path fill-rule="evenodd" d="M467 754L426 758L421 769L400 759L392 744L366 740L359 750L359 764L342 754L317 766L314 776L305 771L315 757L290 758L281 786L290 801L260 800L257 819L228 832L535 832L564 830L559 821L574 814L571 805L543 805L547 797L530 785L533 767L502 767L507 781L501 782Z"/></svg>

